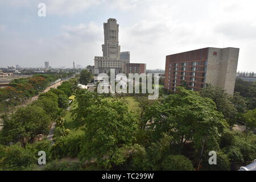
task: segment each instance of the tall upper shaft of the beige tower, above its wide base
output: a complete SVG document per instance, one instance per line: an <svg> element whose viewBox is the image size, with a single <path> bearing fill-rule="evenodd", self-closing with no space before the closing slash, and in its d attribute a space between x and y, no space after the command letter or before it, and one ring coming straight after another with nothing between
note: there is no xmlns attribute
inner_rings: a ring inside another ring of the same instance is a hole
<svg viewBox="0 0 256 182"><path fill-rule="evenodd" d="M119 24L110 18L104 23L104 44L102 45L103 57L120 59L120 46L118 42Z"/></svg>

